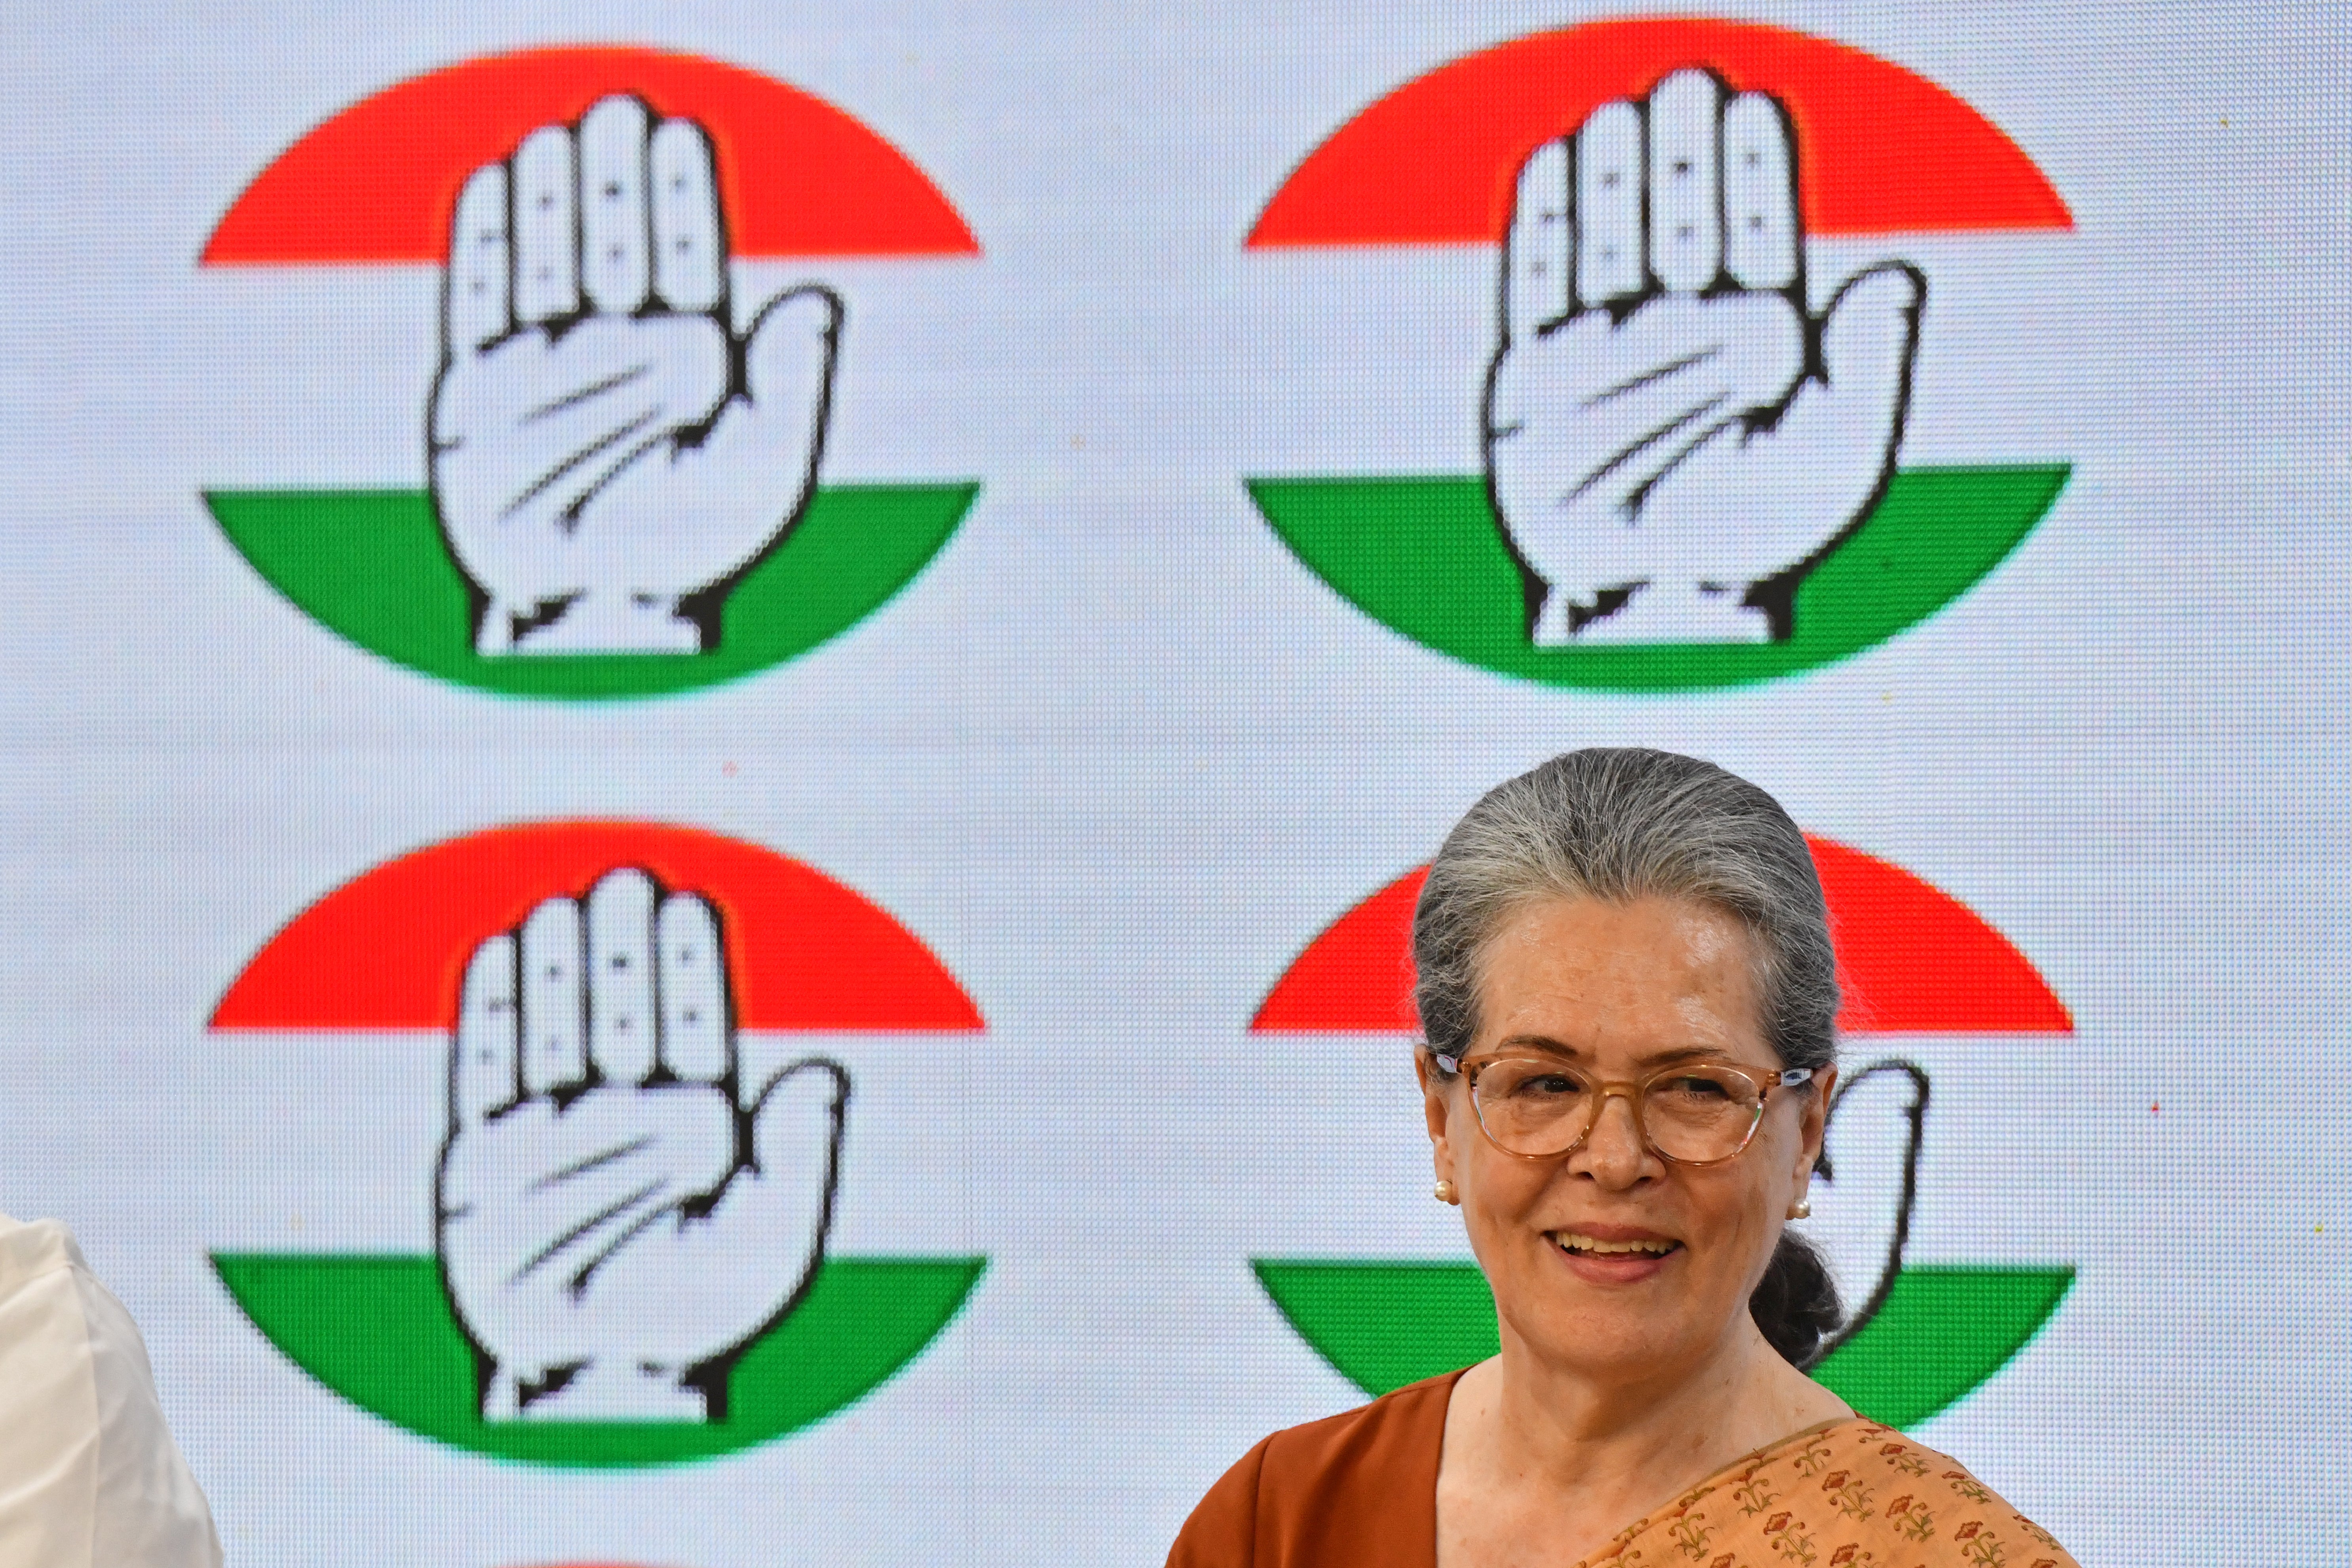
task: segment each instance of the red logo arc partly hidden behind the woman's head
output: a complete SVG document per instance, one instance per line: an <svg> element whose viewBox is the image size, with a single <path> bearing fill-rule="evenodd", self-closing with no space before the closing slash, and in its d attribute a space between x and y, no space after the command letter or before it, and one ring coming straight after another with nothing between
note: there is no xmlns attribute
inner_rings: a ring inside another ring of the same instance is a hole
<svg viewBox="0 0 2352 1568"><path fill-rule="evenodd" d="M1837 933L1844 1034L2072 1034L2074 1020L2009 938L1898 865L1806 837ZM1414 900L1428 867L1362 900L1284 971L1261 1034L1409 1034Z"/></svg>

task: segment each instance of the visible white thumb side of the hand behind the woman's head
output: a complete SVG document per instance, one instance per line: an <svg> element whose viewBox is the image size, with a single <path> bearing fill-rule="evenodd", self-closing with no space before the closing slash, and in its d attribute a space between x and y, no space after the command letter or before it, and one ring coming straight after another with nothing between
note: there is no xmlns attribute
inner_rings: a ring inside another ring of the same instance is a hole
<svg viewBox="0 0 2352 1568"><path fill-rule="evenodd" d="M1919 1197L1926 1093L1926 1072L1917 1063L1889 1058L1844 1079L1830 1103L1813 1171L1813 1218L1802 1234L1830 1265L1846 1321L1820 1354L1877 1316L1903 1269Z"/></svg>

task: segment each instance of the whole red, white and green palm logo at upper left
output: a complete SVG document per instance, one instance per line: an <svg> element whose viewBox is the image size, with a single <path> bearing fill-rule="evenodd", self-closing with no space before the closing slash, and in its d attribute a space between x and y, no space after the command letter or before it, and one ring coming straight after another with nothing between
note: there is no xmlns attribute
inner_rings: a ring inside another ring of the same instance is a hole
<svg viewBox="0 0 2352 1568"><path fill-rule="evenodd" d="M971 252L906 158L781 82L647 49L452 66L313 129L205 247L440 268L437 374L386 433L423 489L207 503L301 609L430 675L572 698L746 675L889 599L976 487L826 480L849 308L739 263Z"/></svg>

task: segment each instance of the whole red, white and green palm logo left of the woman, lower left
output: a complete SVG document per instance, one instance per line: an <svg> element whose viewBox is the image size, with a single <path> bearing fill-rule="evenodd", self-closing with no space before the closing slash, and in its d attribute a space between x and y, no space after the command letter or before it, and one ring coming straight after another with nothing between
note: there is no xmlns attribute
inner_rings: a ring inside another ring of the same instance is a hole
<svg viewBox="0 0 2352 1568"><path fill-rule="evenodd" d="M543 823L416 851L285 926L212 1027L447 1063L437 1150L365 1173L416 1194L430 1255L214 1265L318 1382L459 1448L604 1467L783 1436L915 1359L983 1269L837 1227L837 1041L978 1013L889 914L750 844Z"/></svg>

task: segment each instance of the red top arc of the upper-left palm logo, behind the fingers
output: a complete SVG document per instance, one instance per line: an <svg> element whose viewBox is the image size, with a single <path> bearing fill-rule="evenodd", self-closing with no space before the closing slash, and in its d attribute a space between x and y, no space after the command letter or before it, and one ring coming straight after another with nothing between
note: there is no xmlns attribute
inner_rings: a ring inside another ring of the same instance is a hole
<svg viewBox="0 0 2352 1568"><path fill-rule="evenodd" d="M922 169L823 99L691 54L583 47L473 59L360 99L254 176L202 266L437 266L475 167L619 92L710 132L736 256L981 249Z"/></svg>

